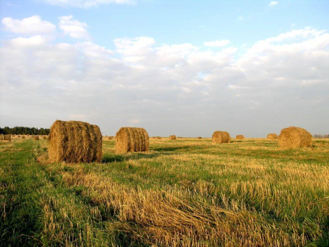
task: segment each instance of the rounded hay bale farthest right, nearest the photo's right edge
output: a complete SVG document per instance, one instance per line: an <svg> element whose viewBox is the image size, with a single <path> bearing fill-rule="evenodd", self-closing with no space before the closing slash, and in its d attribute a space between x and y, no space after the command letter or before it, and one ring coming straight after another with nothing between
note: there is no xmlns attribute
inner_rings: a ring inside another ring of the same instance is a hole
<svg viewBox="0 0 329 247"><path fill-rule="evenodd" d="M312 135L303 128L290 126L282 129L279 135L279 147L282 148L306 148L312 145Z"/></svg>

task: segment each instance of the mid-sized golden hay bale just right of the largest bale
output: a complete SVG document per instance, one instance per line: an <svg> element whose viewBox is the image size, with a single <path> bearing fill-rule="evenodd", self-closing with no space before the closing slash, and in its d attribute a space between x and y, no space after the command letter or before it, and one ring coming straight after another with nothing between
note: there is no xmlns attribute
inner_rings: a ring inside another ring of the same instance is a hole
<svg viewBox="0 0 329 247"><path fill-rule="evenodd" d="M115 151L119 153L149 151L148 134L143 128L121 127L115 140Z"/></svg>

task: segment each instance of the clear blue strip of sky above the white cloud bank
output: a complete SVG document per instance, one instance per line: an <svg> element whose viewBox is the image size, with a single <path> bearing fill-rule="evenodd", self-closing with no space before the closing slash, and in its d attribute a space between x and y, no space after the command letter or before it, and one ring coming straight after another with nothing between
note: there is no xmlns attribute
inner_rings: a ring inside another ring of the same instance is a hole
<svg viewBox="0 0 329 247"><path fill-rule="evenodd" d="M6 1L1 19L39 15L52 23L73 15L89 25L92 41L113 49L118 37L153 37L157 43L202 45L204 41L225 40L232 45L252 45L292 28L306 26L327 29L328 1L136 1L133 4L99 4L72 8L42 1ZM239 19L242 17L243 20ZM63 39L62 39L63 41ZM70 39L64 39L72 42Z"/></svg>

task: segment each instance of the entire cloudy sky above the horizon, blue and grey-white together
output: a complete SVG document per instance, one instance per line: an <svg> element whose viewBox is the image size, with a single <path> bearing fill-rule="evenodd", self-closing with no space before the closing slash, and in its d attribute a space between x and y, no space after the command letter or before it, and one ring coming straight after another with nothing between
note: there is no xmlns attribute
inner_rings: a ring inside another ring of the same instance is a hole
<svg viewBox="0 0 329 247"><path fill-rule="evenodd" d="M328 1L127 1L2 1L0 125L328 132Z"/></svg>

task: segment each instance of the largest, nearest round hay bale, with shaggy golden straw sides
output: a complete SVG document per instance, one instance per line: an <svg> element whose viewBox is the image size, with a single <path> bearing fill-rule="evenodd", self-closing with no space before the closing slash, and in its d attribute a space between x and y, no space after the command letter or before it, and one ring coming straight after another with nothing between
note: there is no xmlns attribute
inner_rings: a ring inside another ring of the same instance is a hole
<svg viewBox="0 0 329 247"><path fill-rule="evenodd" d="M51 162L101 162L102 134L97 125L56 120L48 135Z"/></svg>

